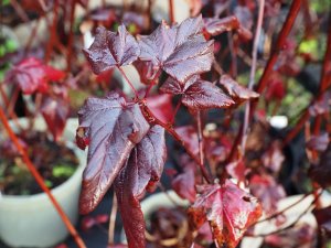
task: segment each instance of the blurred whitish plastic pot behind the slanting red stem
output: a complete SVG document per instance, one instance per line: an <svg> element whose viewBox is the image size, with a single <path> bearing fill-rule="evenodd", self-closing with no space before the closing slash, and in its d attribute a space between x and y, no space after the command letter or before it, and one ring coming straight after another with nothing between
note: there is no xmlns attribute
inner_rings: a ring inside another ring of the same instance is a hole
<svg viewBox="0 0 331 248"><path fill-rule="evenodd" d="M20 119L20 122L22 126L26 125L25 119ZM35 129L44 128L43 119L38 119ZM78 196L86 154L70 142L73 137L74 133L66 128L64 138L68 141L67 145L75 151L79 166L71 179L53 188L52 194L75 224L78 219ZM64 240L67 235L68 230L45 193L31 196L0 195L0 238L7 245L52 247Z"/></svg>

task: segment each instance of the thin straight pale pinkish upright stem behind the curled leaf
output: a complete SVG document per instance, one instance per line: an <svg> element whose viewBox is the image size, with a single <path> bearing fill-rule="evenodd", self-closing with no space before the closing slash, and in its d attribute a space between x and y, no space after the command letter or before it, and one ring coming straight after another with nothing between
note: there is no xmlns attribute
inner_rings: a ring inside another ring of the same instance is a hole
<svg viewBox="0 0 331 248"><path fill-rule="evenodd" d="M248 89L253 89L254 86L256 62L257 62L257 48L260 39L261 25L264 21L264 10L265 10L265 0L259 0L258 19L257 19L256 33L255 33L254 44L253 44L253 52L252 52L252 67L249 74ZM244 117L244 125L243 125L243 140L242 140L243 155L245 154L245 147L246 147L247 136L248 136L247 129L249 122L249 112L250 112L250 100L248 99L245 106L245 117Z"/></svg>

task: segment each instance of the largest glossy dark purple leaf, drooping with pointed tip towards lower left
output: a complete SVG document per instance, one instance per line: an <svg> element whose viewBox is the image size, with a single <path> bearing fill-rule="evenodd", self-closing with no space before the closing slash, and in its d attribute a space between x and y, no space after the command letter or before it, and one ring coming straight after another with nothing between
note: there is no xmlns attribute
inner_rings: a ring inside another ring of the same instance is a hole
<svg viewBox="0 0 331 248"><path fill-rule="evenodd" d="M79 200L81 213L86 214L103 198L149 125L137 104L126 103L116 93L88 98L78 117L83 134L90 140Z"/></svg>

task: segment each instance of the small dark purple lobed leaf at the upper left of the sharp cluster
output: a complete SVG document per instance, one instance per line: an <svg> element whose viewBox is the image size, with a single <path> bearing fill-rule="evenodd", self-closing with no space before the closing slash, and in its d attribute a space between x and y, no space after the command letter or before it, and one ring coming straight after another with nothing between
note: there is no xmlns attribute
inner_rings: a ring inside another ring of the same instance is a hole
<svg viewBox="0 0 331 248"><path fill-rule="evenodd" d="M95 41L84 53L93 72L100 74L115 66L131 64L138 58L139 46L125 25L120 25L117 33L98 28Z"/></svg>

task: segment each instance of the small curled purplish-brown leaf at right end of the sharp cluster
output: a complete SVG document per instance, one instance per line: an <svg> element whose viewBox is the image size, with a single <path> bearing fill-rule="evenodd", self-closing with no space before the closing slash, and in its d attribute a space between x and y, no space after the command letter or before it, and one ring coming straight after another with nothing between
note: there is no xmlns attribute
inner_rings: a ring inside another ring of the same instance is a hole
<svg viewBox="0 0 331 248"><path fill-rule="evenodd" d="M239 85L228 75L223 75L221 77L220 85L233 99L235 99L235 101L243 101L259 97L258 93Z"/></svg>

